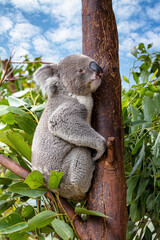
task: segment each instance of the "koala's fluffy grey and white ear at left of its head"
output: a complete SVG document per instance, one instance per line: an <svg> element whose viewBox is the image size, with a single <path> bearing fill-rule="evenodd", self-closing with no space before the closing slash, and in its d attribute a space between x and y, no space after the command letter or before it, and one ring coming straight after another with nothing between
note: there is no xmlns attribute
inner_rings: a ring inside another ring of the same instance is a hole
<svg viewBox="0 0 160 240"><path fill-rule="evenodd" d="M56 91L59 82L58 65L48 64L40 67L34 73L33 79L40 86L43 94L51 95Z"/></svg>

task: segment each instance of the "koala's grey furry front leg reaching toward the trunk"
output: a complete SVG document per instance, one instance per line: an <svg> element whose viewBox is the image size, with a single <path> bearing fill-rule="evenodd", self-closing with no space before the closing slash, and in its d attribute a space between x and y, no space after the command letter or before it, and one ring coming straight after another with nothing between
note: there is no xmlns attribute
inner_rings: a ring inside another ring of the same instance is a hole
<svg viewBox="0 0 160 240"><path fill-rule="evenodd" d="M106 140L91 128L85 119L86 109L62 104L49 118L48 128L55 136L80 147L94 149L99 159L106 150ZM86 113L87 114L87 113Z"/></svg>

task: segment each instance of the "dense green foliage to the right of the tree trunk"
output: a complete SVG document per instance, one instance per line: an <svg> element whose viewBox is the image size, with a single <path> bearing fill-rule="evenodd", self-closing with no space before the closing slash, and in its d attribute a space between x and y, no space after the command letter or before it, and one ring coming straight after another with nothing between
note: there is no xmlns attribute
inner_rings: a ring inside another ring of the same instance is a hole
<svg viewBox="0 0 160 240"><path fill-rule="evenodd" d="M131 50L135 85L122 91L128 240L160 238L160 52L151 46Z"/></svg>

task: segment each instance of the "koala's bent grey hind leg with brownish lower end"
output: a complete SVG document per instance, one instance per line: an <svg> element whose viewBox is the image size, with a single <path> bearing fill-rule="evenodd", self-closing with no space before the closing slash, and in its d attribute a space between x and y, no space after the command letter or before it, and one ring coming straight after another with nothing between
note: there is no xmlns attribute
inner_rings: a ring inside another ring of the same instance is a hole
<svg viewBox="0 0 160 240"><path fill-rule="evenodd" d="M83 147L73 148L63 162L63 169L65 175L60 184L60 195L71 200L84 199L94 171L90 151Z"/></svg>

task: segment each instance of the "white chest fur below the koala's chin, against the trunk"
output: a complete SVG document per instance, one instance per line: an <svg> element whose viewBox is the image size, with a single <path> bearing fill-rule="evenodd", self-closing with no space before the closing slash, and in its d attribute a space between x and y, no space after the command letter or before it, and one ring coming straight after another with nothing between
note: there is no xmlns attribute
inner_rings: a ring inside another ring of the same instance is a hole
<svg viewBox="0 0 160 240"><path fill-rule="evenodd" d="M77 96L71 95L73 98L76 98L79 103L83 104L88 112L87 122L91 124L91 115L92 115L92 108L93 108L93 98L91 95L87 96Z"/></svg>

